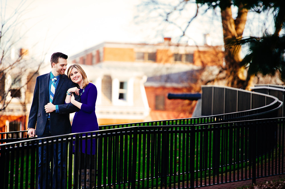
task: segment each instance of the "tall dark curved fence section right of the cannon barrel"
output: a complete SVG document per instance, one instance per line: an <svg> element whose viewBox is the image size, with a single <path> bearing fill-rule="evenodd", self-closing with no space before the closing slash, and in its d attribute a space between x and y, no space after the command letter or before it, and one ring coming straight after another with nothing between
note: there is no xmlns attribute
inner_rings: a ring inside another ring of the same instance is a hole
<svg viewBox="0 0 285 189"><path fill-rule="evenodd" d="M278 98L267 94L223 86L205 85L201 88L201 114L204 116L229 114L241 117L278 106Z"/></svg>

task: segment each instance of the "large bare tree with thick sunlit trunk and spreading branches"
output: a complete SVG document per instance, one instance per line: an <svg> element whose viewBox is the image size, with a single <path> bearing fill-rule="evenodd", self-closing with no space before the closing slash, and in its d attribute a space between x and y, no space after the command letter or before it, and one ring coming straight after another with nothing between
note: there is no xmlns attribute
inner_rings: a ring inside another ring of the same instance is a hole
<svg viewBox="0 0 285 189"><path fill-rule="evenodd" d="M201 15L204 20L209 20L211 19L210 17L212 17L213 22L219 21L221 26L221 30L219 30L221 33L220 36L222 36L225 48L225 66L219 68L218 75L220 76L217 75L213 80L207 80L206 82L211 83L217 80L223 80L227 86L247 88L252 78L245 74L246 67L241 64L241 45L233 45L231 40L238 40L243 37L247 23L247 14L250 11L269 14L272 13L271 8L272 7L266 5L266 3L260 3L260 1L247 3L247 1L244 0L146 0L139 5L139 13L135 17L135 20L137 20L138 24L157 23L155 30L160 31L158 35L163 34L171 25L173 26L172 30L178 29L180 31L180 36L177 36L177 41L185 37L190 39L188 33L195 29L191 24ZM273 18L274 14L271 14L271 16ZM203 19L200 17L200 20ZM210 24L210 22L208 23ZM219 26L216 26L216 28L217 27Z"/></svg>

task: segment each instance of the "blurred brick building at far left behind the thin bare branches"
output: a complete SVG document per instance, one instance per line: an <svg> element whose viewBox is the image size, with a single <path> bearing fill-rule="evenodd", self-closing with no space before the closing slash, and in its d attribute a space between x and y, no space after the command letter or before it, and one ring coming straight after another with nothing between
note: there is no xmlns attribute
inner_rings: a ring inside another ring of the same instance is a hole
<svg viewBox="0 0 285 189"><path fill-rule="evenodd" d="M0 132L27 129L27 104L31 103L38 76L36 67L29 66L34 62L27 49L12 52L0 67Z"/></svg>

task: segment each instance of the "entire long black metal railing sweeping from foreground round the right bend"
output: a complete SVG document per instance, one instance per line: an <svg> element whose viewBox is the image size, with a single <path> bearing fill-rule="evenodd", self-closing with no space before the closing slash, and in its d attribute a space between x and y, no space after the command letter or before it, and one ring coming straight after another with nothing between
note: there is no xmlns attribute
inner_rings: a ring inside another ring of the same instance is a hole
<svg viewBox="0 0 285 189"><path fill-rule="evenodd" d="M229 90L236 94L241 90L237 91ZM40 171L36 166L37 148L60 144L69 149L66 184L68 188L72 184L78 186L81 180L78 170L84 169L78 162L84 160L78 150L73 155L71 149L73 146L77 149L87 139L97 141L96 188L197 188L240 180L255 182L256 178L284 174L285 124L284 118L275 118L283 103L267 94L249 92L245 96L250 96L254 105L263 99L266 103L252 106L250 113L242 110L197 118L115 124L101 126L102 130L91 136L87 132L49 137L44 144L29 138L0 144L0 167L5 167L0 171L0 182L4 188L36 187L35 175ZM254 101L252 98L256 97L259 100Z"/></svg>

